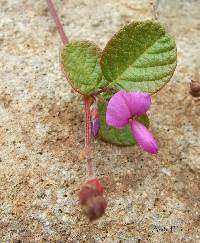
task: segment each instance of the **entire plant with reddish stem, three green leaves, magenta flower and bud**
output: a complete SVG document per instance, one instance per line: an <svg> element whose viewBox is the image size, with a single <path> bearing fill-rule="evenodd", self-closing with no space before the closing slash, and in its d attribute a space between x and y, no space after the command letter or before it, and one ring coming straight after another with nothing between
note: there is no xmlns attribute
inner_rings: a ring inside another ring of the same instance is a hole
<svg viewBox="0 0 200 243"><path fill-rule="evenodd" d="M124 26L103 50L88 40L69 42L52 1L47 2L64 44L63 72L85 103L85 148L79 158L88 161L89 177L94 177L91 134L99 132L100 138L119 146L137 142L156 154L158 144L147 129L146 112L150 95L164 87L176 68L174 39L159 22L140 21ZM103 191L96 178L82 186L80 204L90 220L105 212Z"/></svg>

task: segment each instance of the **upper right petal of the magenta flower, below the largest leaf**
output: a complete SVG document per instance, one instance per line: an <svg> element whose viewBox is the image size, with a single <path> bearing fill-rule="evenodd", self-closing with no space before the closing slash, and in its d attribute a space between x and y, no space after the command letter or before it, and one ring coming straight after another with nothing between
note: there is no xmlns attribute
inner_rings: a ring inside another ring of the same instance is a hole
<svg viewBox="0 0 200 243"><path fill-rule="evenodd" d="M131 110L132 116L141 116L146 113L151 105L151 97L143 92L126 92L126 103Z"/></svg>

